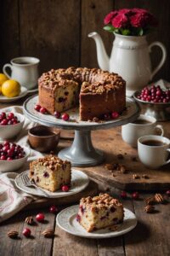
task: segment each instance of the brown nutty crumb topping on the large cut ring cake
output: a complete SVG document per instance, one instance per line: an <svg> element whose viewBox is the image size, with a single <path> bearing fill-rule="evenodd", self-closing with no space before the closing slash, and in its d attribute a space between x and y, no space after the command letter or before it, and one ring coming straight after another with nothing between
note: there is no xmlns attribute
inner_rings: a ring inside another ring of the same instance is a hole
<svg viewBox="0 0 170 256"><path fill-rule="evenodd" d="M42 73L38 79L39 86L55 89L65 84L82 84L82 93L109 92L125 86L125 81L116 73L109 73L97 68L69 67L51 69Z"/></svg>

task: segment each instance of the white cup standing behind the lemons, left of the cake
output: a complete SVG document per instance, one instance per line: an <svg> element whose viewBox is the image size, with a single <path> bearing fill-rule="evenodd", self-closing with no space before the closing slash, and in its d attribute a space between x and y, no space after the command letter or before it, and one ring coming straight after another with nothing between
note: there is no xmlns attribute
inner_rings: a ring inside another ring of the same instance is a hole
<svg viewBox="0 0 170 256"><path fill-rule="evenodd" d="M17 80L21 86L31 90L37 85L39 59L35 57L18 57L3 66L3 73L8 79ZM7 72L10 69L10 74Z"/></svg>

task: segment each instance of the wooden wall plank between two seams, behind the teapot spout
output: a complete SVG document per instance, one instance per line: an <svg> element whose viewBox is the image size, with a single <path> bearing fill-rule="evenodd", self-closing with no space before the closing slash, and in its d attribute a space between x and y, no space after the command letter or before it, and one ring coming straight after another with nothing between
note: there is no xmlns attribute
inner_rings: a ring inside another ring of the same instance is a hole
<svg viewBox="0 0 170 256"><path fill-rule="evenodd" d="M94 39L89 32L99 32L105 43L108 55L111 54L113 35L103 30L104 18L113 9L113 1L82 0L81 66L99 67Z"/></svg>

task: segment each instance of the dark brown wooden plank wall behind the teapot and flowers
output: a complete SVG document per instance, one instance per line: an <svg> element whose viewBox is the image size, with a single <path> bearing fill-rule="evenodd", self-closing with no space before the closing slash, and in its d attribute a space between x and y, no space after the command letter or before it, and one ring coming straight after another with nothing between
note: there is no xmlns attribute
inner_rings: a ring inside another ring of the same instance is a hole
<svg viewBox="0 0 170 256"><path fill-rule="evenodd" d="M149 9L160 21L149 42L160 40L168 55L155 79L170 81L169 0L1 0L1 70L4 63L20 55L40 58L40 73L53 67L98 67L88 32L99 32L110 54L113 35L103 30L105 15L112 9L134 7ZM151 55L154 67L160 58L155 49Z"/></svg>

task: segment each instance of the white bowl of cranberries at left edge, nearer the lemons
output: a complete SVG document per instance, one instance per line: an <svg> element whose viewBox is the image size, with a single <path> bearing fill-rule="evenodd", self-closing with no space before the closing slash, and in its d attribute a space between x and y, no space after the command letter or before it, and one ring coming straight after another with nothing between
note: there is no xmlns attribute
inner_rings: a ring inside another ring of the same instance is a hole
<svg viewBox="0 0 170 256"><path fill-rule="evenodd" d="M21 113L0 112L0 138L7 140L17 136L25 122Z"/></svg>

